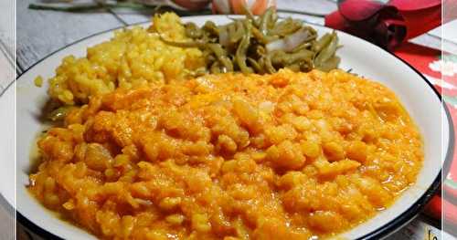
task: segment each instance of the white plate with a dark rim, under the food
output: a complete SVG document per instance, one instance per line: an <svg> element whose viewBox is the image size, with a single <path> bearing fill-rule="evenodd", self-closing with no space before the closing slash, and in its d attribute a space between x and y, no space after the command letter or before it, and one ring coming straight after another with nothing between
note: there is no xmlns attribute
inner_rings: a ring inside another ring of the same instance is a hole
<svg viewBox="0 0 457 240"><path fill-rule="evenodd" d="M226 16L193 16L183 17L185 21L203 24L206 20L212 20L218 24L228 21ZM149 23L144 24L148 26ZM320 35L331 31L322 26L314 26ZM86 54L86 48L110 39L112 31L104 32L92 37L87 37L69 47L65 47L32 68L29 68L17 79L17 215L22 224L33 228L38 234L51 236L57 235L62 238L92 239L93 235L86 231L64 223L48 210L43 208L28 193L28 168L30 166L30 150L36 144L37 132L42 129L36 116L40 113L42 103L47 99L46 90L35 87L33 81L37 75L50 78L54 75L54 69L58 67L63 57L74 55L82 57ZM418 176L417 183L411 186L399 197L388 210L377 214L364 224L342 234L347 239L359 237L379 238L388 235L400 225L406 224L412 216L420 211L424 203L430 199L430 195L437 189L440 183L441 162L446 154L452 155L450 146L453 146L453 130L449 115L441 107L441 99L431 85L416 70L409 67L398 57L376 47L367 41L338 32L341 44L344 46L338 50L342 58L340 68L353 69L353 72L375 79L388 88L393 89L404 103L411 117L418 124L425 141L425 160L422 171ZM0 98L0 107L14 106L14 88L9 88ZM6 118L8 119L8 118ZM442 120L442 121L441 121ZM2 122L5 121L4 119ZM8 123L8 122L5 122ZM13 122L14 123L14 122ZM1 124L0 132L5 137L13 136L14 130L11 124ZM8 138L1 138L2 141ZM2 142L7 143L7 142ZM2 146L5 146L2 144ZM0 152L2 167L0 168L0 191L9 203L15 202L13 184L4 181L7 176L14 174L15 169L14 151Z"/></svg>

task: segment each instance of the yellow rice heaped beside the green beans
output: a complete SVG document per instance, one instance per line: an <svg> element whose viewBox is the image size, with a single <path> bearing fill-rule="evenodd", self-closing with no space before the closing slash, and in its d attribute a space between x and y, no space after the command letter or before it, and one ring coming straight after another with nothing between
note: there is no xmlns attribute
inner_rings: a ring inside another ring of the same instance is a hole
<svg viewBox="0 0 457 240"><path fill-rule="evenodd" d="M154 16L148 29L134 26L116 31L110 41L89 47L86 57L65 57L56 76L49 79L49 96L67 105L84 104L92 95L182 79L204 67L200 50L171 47L159 36L189 40L179 16L173 13Z"/></svg>

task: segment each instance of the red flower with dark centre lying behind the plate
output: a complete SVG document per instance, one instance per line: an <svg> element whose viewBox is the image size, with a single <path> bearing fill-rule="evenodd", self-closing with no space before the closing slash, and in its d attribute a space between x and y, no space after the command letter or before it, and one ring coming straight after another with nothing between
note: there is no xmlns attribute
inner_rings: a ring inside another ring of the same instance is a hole
<svg viewBox="0 0 457 240"><path fill-rule="evenodd" d="M450 0L444 4L451 7L457 5L456 2ZM365 38L389 50L440 25L441 0L390 0L387 4L345 0L340 1L338 11L325 17L325 26Z"/></svg>

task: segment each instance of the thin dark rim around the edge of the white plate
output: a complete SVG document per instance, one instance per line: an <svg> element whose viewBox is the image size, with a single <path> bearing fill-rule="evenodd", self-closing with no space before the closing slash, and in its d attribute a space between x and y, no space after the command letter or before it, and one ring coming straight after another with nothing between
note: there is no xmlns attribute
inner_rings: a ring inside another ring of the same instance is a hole
<svg viewBox="0 0 457 240"><path fill-rule="evenodd" d="M194 18L194 17L209 17L209 16L187 16L185 18ZM52 57L54 54L58 53L59 51L67 48L67 47L70 47L70 46L73 46L75 44L78 44L80 43L81 41L84 41L90 37L96 37L96 36L99 36L101 34L105 34L105 33L108 33L108 32L111 32L113 30L117 30L117 29L122 29L122 28L125 28L125 27L129 27L129 26L136 26L136 25L143 25L143 24L146 24L146 23L149 23L150 21L146 21L146 22L139 22L139 23L135 23L135 24L131 24L131 25L128 25L128 26L119 26L119 27L114 27L112 29L108 29L108 30L105 30L105 31L101 31L99 33L96 33L96 34L92 34L88 37L83 37L65 47L60 47L58 48L57 50L55 50L54 52L50 53L48 56L46 57L43 57L41 58L39 61L37 61L35 64L33 64L32 66L30 66L29 68L27 68L26 70L24 70L24 72L22 72L21 74L19 74L16 78L16 80L18 80L22 75L26 74L28 70L30 70L31 68L34 68L37 64L41 63L42 61L46 60L48 57ZM316 25L314 23L309 23L309 22L305 22L305 24L307 25L313 25L313 26L318 26L318 27L326 27L326 26L320 26L320 25ZM342 32L341 31L337 31L339 34L341 34ZM346 34L346 33L344 33ZM356 36L352 36L351 37L356 37ZM362 39L360 37L356 37L356 38L359 38L365 42L367 42L365 39ZM394 55L393 53L389 52L388 50L382 48L382 47L378 47L377 45L374 45L370 42L367 42L369 44L371 44L372 46L374 47L377 47L385 52L387 52L389 55L393 56L393 57L396 57L397 59L399 59L401 62L403 62L405 65L407 65L409 68L411 68L412 70L414 70L418 76L420 76L420 78L422 78L425 83L430 87L430 89L433 90L433 92L436 94L437 98L440 99L441 101L441 106L442 108L444 109L444 111L446 112L446 117L447 117L447 120L449 122L449 142L448 142L448 149L446 151L446 157L445 157L445 160L444 160L444 163L443 165L441 166L441 171L440 173L437 175L437 177L435 178L435 180L433 181L433 183L431 183L430 187L427 189L427 191L425 193L423 193L420 198L416 201L416 203L413 203L408 210L406 210L405 212L399 214L394 220L388 222L388 224L385 224L379 228L377 228L376 230L372 231L371 233L368 233L367 235L363 235L358 239L382 239L382 238L385 238L387 237L388 235L390 234L393 234L396 230L399 230L400 227L404 226L405 224L409 224L409 222L414 218L414 216L416 216L417 214L420 213L420 211L423 209L423 207L430 201L431 197L434 195L434 193L436 193L439 189L440 189L440 186L441 186L441 175L443 176L446 176L447 173L449 172L449 168L451 166L451 162L452 162L452 156L453 156L453 151L454 151L454 128L453 128L453 124L452 124L452 117L451 117L451 114L448 110L448 107L446 106L445 103L443 103L442 99L441 99L441 95L440 93L438 92L437 89L435 89L433 87L433 85L431 85L431 83L429 82L429 80L427 80L427 78L425 78L421 73L420 71L418 71L416 68L412 67L408 62L406 62L405 60L401 59L400 57L397 57L396 55ZM13 85L15 81L12 81L4 90L4 92L0 93L0 97L3 96L3 94L5 93L6 89L8 89L11 85ZM443 174L443 172L445 174ZM5 200L4 196L0 194L0 199L1 200ZM7 201L4 201L7 203ZM9 204L8 204L9 205ZM9 205L10 206L10 205ZM11 206L10 206L11 207ZM30 220L27 219L27 217L25 217L24 215L20 214L18 211L16 211L16 218L17 218L17 221L19 221L20 224L24 225L25 227L27 227L27 230L30 230L30 231L33 231L34 234L37 234L37 235L40 235L42 237L44 237L45 239L62 239L61 237L57 236L57 235L53 235L51 233L49 233L47 230L41 228L40 226L38 226L37 224L34 224L32 223Z"/></svg>

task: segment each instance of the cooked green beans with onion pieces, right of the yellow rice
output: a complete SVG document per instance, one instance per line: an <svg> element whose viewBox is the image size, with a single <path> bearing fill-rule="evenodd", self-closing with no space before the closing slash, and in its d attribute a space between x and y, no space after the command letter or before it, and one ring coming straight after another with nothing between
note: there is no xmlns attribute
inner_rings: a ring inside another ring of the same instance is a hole
<svg viewBox="0 0 457 240"><path fill-rule="evenodd" d="M317 39L317 32L303 21L291 17L278 20L273 7L262 16L232 18L226 25L207 21L198 27L186 23L186 37L191 42L163 40L176 47L198 47L203 51L211 73L240 71L243 73L274 73L281 68L310 71L338 67L336 33Z"/></svg>

